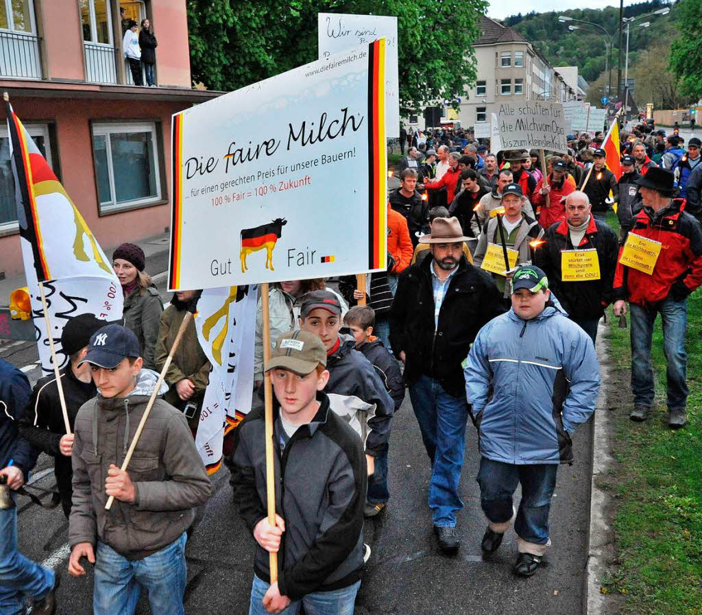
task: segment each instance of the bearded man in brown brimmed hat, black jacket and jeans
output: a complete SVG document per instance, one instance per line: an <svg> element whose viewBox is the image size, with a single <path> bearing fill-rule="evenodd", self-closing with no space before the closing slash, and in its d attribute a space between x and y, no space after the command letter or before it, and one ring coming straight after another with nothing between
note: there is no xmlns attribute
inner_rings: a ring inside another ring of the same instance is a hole
<svg viewBox="0 0 702 615"><path fill-rule="evenodd" d="M404 378L432 464L429 508L439 548L458 549L456 511L463 508L458 482L463 468L468 403L461 362L480 328L504 309L486 272L463 255L458 218L436 218L431 256L407 267L390 310L390 344L404 363Z"/></svg>

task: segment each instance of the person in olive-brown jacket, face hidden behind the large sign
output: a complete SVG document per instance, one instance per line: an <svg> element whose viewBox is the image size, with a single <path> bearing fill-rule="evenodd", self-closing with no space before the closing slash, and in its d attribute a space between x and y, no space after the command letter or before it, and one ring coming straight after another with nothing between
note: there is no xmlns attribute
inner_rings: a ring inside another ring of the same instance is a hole
<svg viewBox="0 0 702 615"><path fill-rule="evenodd" d="M202 291L178 291L173 293L171 305L161 312L159 337L156 341L154 355L156 369L164 369L168 352L171 352L173 342L178 335L180 324L192 305L197 303ZM197 340L194 321L190 321L180 340L180 345L173 361L166 371L166 384L169 389L164 399L166 402L182 410L190 425L194 437L200 420L202 399L209 381L210 362Z"/></svg>

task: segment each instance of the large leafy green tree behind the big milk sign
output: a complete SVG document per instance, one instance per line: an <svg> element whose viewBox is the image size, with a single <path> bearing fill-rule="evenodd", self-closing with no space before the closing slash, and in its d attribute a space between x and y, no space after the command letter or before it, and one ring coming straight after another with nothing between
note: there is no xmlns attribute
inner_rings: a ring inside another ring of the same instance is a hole
<svg viewBox="0 0 702 615"><path fill-rule="evenodd" d="M193 79L235 90L317 59L317 13L397 15L400 111L456 100L477 77L487 0L187 0Z"/></svg>

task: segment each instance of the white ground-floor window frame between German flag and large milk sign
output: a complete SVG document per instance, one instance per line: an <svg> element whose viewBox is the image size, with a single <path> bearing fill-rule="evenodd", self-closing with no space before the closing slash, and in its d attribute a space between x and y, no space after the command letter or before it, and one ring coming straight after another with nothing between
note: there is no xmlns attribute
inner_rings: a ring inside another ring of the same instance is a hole
<svg viewBox="0 0 702 615"><path fill-rule="evenodd" d="M114 187L114 169L112 164L112 145L110 143L110 135L116 133L151 133L154 156L152 164L154 165L154 173L156 178L156 195L145 199L132 199L131 201L122 201L117 203L117 190ZM98 187L98 173L95 169L95 197L98 200L98 213L100 216L105 216L108 213L114 213L123 209L135 209L139 206L149 206L161 201L161 165L159 164L159 141L157 124L153 121L128 122L128 123L100 123L93 124L91 134L91 145L93 137L105 137L105 148L107 152L107 176L110 178L110 201L100 202L100 187ZM95 152L93 151L93 168L95 167Z"/></svg>

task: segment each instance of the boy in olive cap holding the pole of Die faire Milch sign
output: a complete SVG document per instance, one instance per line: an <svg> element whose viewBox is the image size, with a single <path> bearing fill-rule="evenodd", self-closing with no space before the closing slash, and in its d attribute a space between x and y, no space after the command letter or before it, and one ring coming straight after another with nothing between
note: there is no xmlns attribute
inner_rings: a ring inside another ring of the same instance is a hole
<svg viewBox="0 0 702 615"><path fill-rule="evenodd" d="M251 411L234 430L228 459L234 503L253 531L250 615L352 615L364 562L366 468L361 440L329 408L326 350L308 331L290 331L265 366L274 404L276 524L265 513L265 419ZM270 583L269 553L278 553Z"/></svg>

